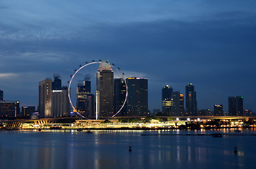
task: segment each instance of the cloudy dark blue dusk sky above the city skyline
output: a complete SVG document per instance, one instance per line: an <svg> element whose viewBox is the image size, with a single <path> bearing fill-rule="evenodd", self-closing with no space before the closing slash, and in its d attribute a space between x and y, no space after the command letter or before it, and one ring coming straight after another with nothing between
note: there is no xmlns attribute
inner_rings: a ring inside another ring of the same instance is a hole
<svg viewBox="0 0 256 169"><path fill-rule="evenodd" d="M255 9L255 0L1 1L0 89L37 106L38 82L60 73L67 85L79 65L102 59L149 79L151 111L163 86L185 94L189 83L197 108L227 111L236 95L256 111Z"/></svg>

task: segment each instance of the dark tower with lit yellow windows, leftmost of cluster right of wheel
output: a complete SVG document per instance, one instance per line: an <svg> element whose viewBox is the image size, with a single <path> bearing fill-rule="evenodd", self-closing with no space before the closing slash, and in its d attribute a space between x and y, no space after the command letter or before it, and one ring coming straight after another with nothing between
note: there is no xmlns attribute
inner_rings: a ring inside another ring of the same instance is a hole
<svg viewBox="0 0 256 169"><path fill-rule="evenodd" d="M173 88L169 87L166 85L162 89L162 111L163 115L171 115L172 111L172 101L171 101L171 96L172 96Z"/></svg>

